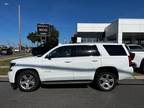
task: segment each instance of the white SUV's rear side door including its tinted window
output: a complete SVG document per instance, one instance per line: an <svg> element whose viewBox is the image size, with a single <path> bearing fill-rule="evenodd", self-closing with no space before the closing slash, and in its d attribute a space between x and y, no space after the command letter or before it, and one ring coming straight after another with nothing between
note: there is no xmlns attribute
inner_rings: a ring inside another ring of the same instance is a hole
<svg viewBox="0 0 144 108"><path fill-rule="evenodd" d="M101 56L95 45L74 46L74 80L92 80L96 68L100 66Z"/></svg>

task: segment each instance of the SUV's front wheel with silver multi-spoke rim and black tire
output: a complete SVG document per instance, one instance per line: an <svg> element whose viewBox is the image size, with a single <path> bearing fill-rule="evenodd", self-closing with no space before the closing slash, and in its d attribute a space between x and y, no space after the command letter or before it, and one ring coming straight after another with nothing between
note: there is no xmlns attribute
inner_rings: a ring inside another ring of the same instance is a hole
<svg viewBox="0 0 144 108"><path fill-rule="evenodd" d="M16 84L21 91L32 92L40 87L40 79L35 71L25 70L18 75Z"/></svg>

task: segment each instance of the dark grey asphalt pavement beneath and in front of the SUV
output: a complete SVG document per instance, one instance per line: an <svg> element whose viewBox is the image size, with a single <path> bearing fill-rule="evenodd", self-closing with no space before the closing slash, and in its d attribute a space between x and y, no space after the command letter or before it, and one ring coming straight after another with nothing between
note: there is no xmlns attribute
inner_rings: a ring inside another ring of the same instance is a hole
<svg viewBox="0 0 144 108"><path fill-rule="evenodd" d="M1 108L144 108L143 100L144 80L121 81L111 92L86 85L46 85L30 93L0 80Z"/></svg>

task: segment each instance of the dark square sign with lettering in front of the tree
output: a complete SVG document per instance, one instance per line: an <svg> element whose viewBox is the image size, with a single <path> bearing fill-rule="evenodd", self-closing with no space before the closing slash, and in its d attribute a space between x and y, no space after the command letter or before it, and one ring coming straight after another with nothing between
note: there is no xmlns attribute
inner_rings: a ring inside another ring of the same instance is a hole
<svg viewBox="0 0 144 108"><path fill-rule="evenodd" d="M49 35L50 24L37 24L37 32L39 35Z"/></svg>

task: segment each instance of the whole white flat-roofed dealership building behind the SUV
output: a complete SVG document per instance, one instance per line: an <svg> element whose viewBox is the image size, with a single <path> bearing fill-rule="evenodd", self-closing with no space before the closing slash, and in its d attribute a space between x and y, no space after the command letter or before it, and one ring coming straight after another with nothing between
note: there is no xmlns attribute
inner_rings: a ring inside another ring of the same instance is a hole
<svg viewBox="0 0 144 108"><path fill-rule="evenodd" d="M144 45L144 19L120 18L112 23L77 23L73 43L103 41Z"/></svg>

